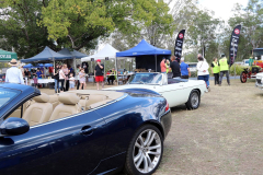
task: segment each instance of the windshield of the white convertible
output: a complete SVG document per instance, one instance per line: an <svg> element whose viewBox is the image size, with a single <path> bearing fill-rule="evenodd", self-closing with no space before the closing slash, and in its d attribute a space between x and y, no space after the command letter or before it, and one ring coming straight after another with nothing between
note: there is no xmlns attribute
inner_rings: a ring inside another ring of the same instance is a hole
<svg viewBox="0 0 263 175"><path fill-rule="evenodd" d="M160 84L162 81L161 73L136 73L133 74L128 83L129 84Z"/></svg>

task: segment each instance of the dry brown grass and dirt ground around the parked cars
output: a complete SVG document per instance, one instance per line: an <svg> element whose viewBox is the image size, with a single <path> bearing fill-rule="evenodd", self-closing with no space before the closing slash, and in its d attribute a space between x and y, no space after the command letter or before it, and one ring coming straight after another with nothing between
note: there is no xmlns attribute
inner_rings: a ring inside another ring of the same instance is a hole
<svg viewBox="0 0 263 175"><path fill-rule="evenodd" d="M172 128L155 175L263 174L263 91L254 80L210 84L198 109L172 108Z"/></svg>

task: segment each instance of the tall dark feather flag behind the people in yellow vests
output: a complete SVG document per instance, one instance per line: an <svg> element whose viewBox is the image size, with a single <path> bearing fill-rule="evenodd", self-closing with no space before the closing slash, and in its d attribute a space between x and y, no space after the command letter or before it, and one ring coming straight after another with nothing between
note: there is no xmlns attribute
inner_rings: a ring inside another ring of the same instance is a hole
<svg viewBox="0 0 263 175"><path fill-rule="evenodd" d="M233 65L235 59L237 58L240 32L241 32L241 25L237 25L232 31L230 47L229 47L229 66L230 67Z"/></svg>

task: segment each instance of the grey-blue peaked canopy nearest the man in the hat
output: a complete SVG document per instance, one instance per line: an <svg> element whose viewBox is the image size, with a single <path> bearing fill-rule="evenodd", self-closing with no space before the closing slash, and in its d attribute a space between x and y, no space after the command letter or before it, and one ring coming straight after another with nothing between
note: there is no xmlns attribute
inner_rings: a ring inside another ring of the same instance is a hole
<svg viewBox="0 0 263 175"><path fill-rule="evenodd" d="M21 62L41 62L41 61L54 61L54 60L62 60L62 59L73 59L73 58L72 56L65 56L65 55L58 54L46 46L45 49L38 55L28 59L22 59Z"/></svg>

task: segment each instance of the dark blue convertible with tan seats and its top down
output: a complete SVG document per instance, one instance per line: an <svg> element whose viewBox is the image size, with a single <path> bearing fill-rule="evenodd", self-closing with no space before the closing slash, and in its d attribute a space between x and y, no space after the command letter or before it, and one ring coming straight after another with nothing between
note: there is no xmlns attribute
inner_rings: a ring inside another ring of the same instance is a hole
<svg viewBox="0 0 263 175"><path fill-rule="evenodd" d="M0 83L0 175L152 174L170 127L152 91L47 95Z"/></svg>

